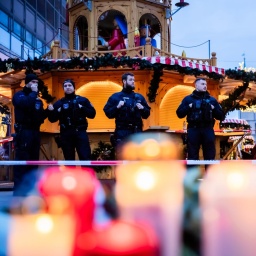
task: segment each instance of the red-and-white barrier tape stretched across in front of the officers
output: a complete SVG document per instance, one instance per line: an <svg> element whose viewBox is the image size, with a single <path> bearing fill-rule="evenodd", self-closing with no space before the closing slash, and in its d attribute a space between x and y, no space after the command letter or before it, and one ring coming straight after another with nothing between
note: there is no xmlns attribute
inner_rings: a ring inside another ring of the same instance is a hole
<svg viewBox="0 0 256 256"><path fill-rule="evenodd" d="M161 160L160 160L161 161ZM212 165L220 164L221 162L250 162L256 164L256 160L176 160L185 165ZM44 166L58 166L58 165L71 165L71 166L115 166L122 164L129 164L141 161L127 161L127 160L113 160L113 161L0 161L0 166L3 165L44 165Z"/></svg>

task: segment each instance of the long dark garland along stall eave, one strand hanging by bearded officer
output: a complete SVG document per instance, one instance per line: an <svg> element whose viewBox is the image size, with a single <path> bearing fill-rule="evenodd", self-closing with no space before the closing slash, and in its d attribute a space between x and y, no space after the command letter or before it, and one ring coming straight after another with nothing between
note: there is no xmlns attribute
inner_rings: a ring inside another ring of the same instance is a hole
<svg viewBox="0 0 256 256"><path fill-rule="evenodd" d="M105 54L101 57L94 58L80 58L74 57L69 60L57 60L50 61L45 59L34 58L34 60L19 60L19 59L8 59L1 60L0 59L0 72L6 73L8 70L8 66L12 67L13 70L18 71L22 69L26 69L27 72L32 72L33 70L40 70L41 72L49 72L52 70L70 70L70 69L83 69L86 71L94 71L98 70L101 67L123 67L127 66L134 70L154 70L153 78L150 82L150 86L148 88L148 100L149 102L155 102L155 98L157 95L157 90L159 87L159 82L161 81L160 77L163 75L163 69L174 70L181 74L186 75L205 75L212 79L223 79L222 75L217 73L209 73L208 71L201 71L199 69L192 69L189 67L181 67L179 65L165 65L160 63L150 63L147 60L139 59L139 58L130 58L128 56L122 57L113 57L112 54Z"/></svg>

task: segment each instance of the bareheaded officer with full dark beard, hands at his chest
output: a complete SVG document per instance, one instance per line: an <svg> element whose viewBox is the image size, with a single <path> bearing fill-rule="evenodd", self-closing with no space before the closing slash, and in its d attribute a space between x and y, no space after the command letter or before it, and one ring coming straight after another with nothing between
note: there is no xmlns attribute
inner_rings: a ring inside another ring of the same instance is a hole
<svg viewBox="0 0 256 256"><path fill-rule="evenodd" d="M114 146L130 134L142 132L142 119L150 115L150 107L145 98L134 92L134 74L124 73L122 83L122 91L110 96L103 109L108 118L115 118Z"/></svg>

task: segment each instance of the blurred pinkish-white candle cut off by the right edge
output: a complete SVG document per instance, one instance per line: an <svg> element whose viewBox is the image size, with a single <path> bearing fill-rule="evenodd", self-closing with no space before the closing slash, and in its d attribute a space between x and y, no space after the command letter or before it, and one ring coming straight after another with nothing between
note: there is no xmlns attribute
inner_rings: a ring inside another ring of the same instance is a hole
<svg viewBox="0 0 256 256"><path fill-rule="evenodd" d="M245 161L222 162L202 182L202 254L253 256L256 251L256 173Z"/></svg>

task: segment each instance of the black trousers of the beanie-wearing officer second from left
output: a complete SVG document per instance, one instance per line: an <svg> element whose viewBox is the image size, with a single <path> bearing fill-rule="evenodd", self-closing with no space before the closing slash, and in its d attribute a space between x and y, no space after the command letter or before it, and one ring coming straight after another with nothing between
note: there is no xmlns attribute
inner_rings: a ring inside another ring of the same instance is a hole
<svg viewBox="0 0 256 256"><path fill-rule="evenodd" d="M77 151L79 160L90 160L91 147L85 130L66 129L60 132L61 148L65 160L75 160Z"/></svg>

